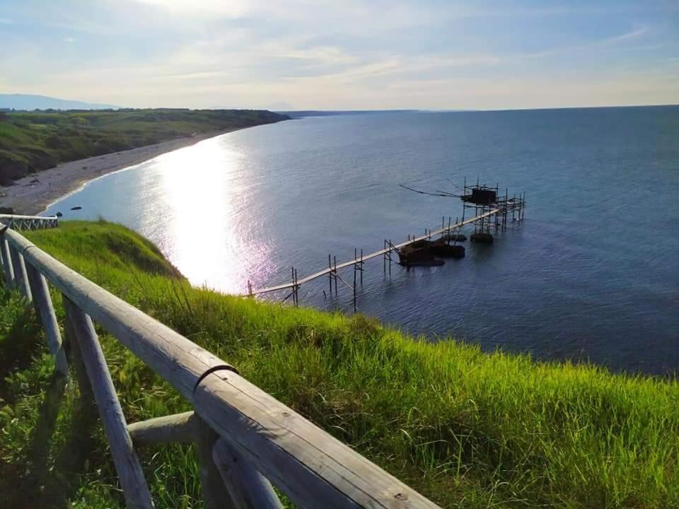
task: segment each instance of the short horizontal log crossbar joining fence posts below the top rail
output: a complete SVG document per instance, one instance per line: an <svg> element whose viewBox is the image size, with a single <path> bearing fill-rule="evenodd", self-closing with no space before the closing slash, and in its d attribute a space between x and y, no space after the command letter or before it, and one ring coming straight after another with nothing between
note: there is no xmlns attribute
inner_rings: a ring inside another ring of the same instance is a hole
<svg viewBox="0 0 679 509"><path fill-rule="evenodd" d="M197 439L199 417L192 411L129 424L134 443L192 443Z"/></svg>

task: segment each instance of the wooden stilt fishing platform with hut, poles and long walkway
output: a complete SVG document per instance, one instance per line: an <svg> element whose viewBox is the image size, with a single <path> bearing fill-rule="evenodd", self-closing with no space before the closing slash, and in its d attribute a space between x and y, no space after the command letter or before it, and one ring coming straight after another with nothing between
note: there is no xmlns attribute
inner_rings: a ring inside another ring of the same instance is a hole
<svg viewBox="0 0 679 509"><path fill-rule="evenodd" d="M286 291L287 295L283 298L283 301L285 302L291 298L294 305L299 305L299 288L304 283L327 276L329 294L326 294L324 290L323 295L325 297L332 295L333 288L335 295L337 295L337 282L341 281L344 286L347 286L352 291L355 312L356 286L357 283L361 286L363 285L364 264L369 259L382 257L385 274L391 274L394 253L398 255L399 264L407 268L443 265L444 261L441 258L464 257L465 249L459 243L467 240L466 236L462 233L462 229L465 226L474 226L474 233L470 235L471 242L492 244L494 237L491 229L494 228L494 232L506 230L510 214L512 222L522 221L526 209L526 192L518 195L513 194L510 197L509 189L506 188L504 195L501 195L498 184L495 187L490 187L487 184L481 184L478 179L475 185L468 185L465 178L464 187L460 189L463 191L463 194L445 191L437 191L436 193L424 192L405 185L400 186L420 194L459 198L463 202L461 220L459 217L455 218L453 223L452 216L448 216L448 224L446 226L446 216L443 216L441 218L440 229L432 231L424 228L424 235L419 237L408 235L407 240L398 244L394 244L390 239L384 239L383 248L369 254L364 254L362 249L360 251L354 249L354 259L350 259L347 262L337 263L337 257L328 254L326 269L321 269L302 278L298 277L297 269L292 267L291 281L287 283L254 289L252 283L248 281L248 293L243 294L243 296L254 297L264 293ZM466 212L472 209L474 210L474 215L471 218L465 219ZM353 284L345 281L338 272L349 267L354 272Z"/></svg>

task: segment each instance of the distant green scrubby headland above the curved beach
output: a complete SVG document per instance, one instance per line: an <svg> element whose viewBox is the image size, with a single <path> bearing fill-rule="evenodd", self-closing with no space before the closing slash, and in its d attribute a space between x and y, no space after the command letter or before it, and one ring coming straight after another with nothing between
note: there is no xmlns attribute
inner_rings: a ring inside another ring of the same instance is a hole
<svg viewBox="0 0 679 509"><path fill-rule="evenodd" d="M266 110L0 112L0 184L66 161L286 118Z"/></svg>

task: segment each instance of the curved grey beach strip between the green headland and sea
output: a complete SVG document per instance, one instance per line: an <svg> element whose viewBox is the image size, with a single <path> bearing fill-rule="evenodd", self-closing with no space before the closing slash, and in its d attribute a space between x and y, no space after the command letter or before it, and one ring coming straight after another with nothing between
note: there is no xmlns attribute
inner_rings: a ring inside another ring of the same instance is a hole
<svg viewBox="0 0 679 509"><path fill-rule="evenodd" d="M219 134L224 132L163 141L156 145L132 148L129 151L62 163L16 180L15 185L0 186L0 206L12 207L17 214L34 216L44 211L52 202L79 189L90 180Z"/></svg>

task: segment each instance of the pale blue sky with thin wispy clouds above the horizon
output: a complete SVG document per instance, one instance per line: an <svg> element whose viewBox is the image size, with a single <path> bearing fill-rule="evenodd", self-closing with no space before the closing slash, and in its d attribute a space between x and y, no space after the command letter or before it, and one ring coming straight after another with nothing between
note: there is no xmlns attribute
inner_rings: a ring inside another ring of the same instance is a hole
<svg viewBox="0 0 679 509"><path fill-rule="evenodd" d="M679 1L1 0L0 93L124 107L679 103Z"/></svg>

